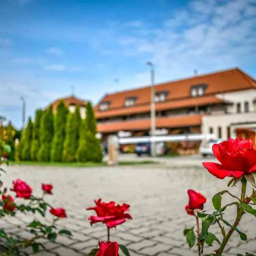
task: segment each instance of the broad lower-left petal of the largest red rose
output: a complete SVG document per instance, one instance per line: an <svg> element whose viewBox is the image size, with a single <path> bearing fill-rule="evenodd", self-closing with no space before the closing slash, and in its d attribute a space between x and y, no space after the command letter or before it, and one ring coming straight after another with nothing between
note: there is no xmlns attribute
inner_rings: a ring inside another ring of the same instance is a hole
<svg viewBox="0 0 256 256"><path fill-rule="evenodd" d="M224 179L225 177L239 178L244 174L244 172L241 172L241 171L225 170L224 166L218 163L204 162L202 164L209 171L209 173L211 173L218 179Z"/></svg>

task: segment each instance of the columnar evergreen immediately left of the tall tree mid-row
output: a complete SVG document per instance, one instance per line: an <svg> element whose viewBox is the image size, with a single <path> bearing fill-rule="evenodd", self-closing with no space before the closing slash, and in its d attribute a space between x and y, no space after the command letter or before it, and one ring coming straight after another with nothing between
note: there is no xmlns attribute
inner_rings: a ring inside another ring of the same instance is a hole
<svg viewBox="0 0 256 256"><path fill-rule="evenodd" d="M38 151L38 161L48 162L50 160L53 134L53 113L52 106L50 106L46 111L44 111L40 122L40 149Z"/></svg>

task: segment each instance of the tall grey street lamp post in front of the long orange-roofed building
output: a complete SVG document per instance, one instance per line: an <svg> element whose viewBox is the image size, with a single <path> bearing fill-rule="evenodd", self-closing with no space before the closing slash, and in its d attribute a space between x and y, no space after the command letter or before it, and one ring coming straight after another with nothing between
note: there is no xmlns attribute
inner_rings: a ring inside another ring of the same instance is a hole
<svg viewBox="0 0 256 256"><path fill-rule="evenodd" d="M150 75L151 75L151 115L150 115L150 121L151 121L151 137L154 137L155 135L155 129L156 129L156 111L155 111L155 92L154 92L154 64L150 61L147 61L146 64L150 67ZM155 156L155 143L154 141L151 141L151 156Z"/></svg>

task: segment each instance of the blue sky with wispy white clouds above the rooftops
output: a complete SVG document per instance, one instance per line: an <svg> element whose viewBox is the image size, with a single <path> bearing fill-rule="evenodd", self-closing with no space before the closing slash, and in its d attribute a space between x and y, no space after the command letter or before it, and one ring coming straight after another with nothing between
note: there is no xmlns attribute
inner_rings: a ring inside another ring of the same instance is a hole
<svg viewBox="0 0 256 256"><path fill-rule="evenodd" d="M256 0L1 0L0 115L240 67L256 77ZM118 79L118 81L116 81Z"/></svg>

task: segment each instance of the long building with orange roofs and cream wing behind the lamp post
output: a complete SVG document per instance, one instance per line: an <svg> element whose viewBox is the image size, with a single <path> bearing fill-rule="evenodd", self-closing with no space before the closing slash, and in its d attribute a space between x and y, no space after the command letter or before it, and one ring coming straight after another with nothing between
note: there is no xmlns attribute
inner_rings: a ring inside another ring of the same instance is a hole
<svg viewBox="0 0 256 256"><path fill-rule="evenodd" d="M150 86L105 95L95 107L102 140L149 135L150 99ZM238 68L157 84L155 108L157 134L249 133L255 141L256 81Z"/></svg>

